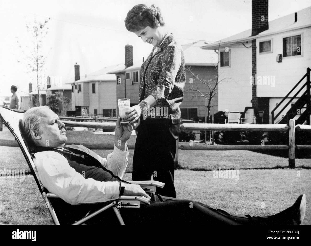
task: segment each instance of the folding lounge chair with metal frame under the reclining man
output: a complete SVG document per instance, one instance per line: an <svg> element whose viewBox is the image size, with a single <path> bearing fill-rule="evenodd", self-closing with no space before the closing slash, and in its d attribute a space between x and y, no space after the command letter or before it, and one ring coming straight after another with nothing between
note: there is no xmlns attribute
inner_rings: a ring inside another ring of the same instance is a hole
<svg viewBox="0 0 311 246"><path fill-rule="evenodd" d="M32 160L32 157L30 156L30 153L28 152L28 149L26 148L26 144L24 143L22 137L21 137L21 131L20 131L20 122L23 119L24 112L18 111L14 109L8 109L6 107L0 107L0 118L3 120L3 123L7 126L7 128L11 131L13 136L16 138L16 141L21 148L21 151L27 161L27 164L31 170L31 173L33 174L35 181L38 185L39 191L42 194L42 197L44 199L44 202L46 204L46 207L49 208L49 212L52 216L52 219L54 221L55 225L59 225L59 220L56 215L56 212L52 206L52 203L50 201L50 198L54 200L58 199L63 204L68 203L64 202L61 198L59 198L57 195L50 193L41 183L38 175L37 168L35 167L35 164ZM147 193L154 193L156 191L156 187L163 188L164 183L159 181L130 181L132 184L139 184L142 189L144 189ZM118 221L120 224L124 225L122 216L119 212L119 207L128 207L129 208L138 208L141 204L149 203L149 199L145 198L143 196L120 196L117 200L109 201L104 203L104 206L101 207L96 212L93 212L92 214L86 214L82 219L78 221L74 221L74 225L80 225L84 223L85 221L91 219L92 217L96 216L97 214L107 210L108 208L112 207L114 210L115 215L118 218ZM98 205L101 205L102 203L97 203ZM83 205L77 205L77 206L83 206Z"/></svg>

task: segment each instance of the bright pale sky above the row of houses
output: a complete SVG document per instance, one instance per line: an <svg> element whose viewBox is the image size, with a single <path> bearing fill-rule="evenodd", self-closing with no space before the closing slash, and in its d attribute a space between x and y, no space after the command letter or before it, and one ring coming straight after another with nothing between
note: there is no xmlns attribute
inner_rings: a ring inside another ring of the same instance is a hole
<svg viewBox="0 0 311 246"><path fill-rule="evenodd" d="M29 82L36 86L25 58L33 47L26 24L47 23L43 40L46 56L42 77L66 80L106 66L124 63L124 46L133 46L133 60L142 60L152 50L124 25L128 11L136 4L160 7L169 32L180 44L198 40L211 43L248 30L252 26L252 3L243 0L136 1L136 0L0 0L0 95L11 95L12 84L20 94L28 93ZM270 0L269 21L311 6L311 0ZM21 46L21 47L20 47Z"/></svg>

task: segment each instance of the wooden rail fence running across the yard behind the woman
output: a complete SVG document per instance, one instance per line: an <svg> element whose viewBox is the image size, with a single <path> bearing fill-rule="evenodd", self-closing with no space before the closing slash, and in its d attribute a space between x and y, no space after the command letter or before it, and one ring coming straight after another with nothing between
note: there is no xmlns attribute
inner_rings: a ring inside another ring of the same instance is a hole
<svg viewBox="0 0 311 246"><path fill-rule="evenodd" d="M60 117L62 119L71 119L75 117ZM78 118L80 119L80 118ZM83 118L81 118L83 119ZM85 118L86 119L86 118ZM109 119L109 118L108 118ZM109 119L110 120L110 119ZM81 122L81 121L63 121L67 126L102 128L114 130L115 122ZM243 125L243 124L198 124L183 123L180 125L183 130L220 130L220 131L287 131L289 130L288 145L190 145L189 143L179 142L178 149L182 150L281 150L288 149L288 163L290 168L295 168L295 150L311 150L311 145L295 145L295 131L309 131L310 125L295 125L295 120L291 119L287 125ZM67 143L82 144L89 149L114 149L114 144L98 143ZM14 140L0 139L0 146L18 147ZM128 149L134 149L135 145L128 145ZM177 149L177 156L178 156Z"/></svg>

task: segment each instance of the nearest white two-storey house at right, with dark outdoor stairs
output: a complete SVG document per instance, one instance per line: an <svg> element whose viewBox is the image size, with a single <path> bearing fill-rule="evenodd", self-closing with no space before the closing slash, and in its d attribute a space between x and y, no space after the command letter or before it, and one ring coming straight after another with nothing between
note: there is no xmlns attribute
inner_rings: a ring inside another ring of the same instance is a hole
<svg viewBox="0 0 311 246"><path fill-rule="evenodd" d="M263 124L310 125L311 7L268 21L268 0L253 0L252 29L201 48L218 50L219 79L227 78L219 110L254 107Z"/></svg>

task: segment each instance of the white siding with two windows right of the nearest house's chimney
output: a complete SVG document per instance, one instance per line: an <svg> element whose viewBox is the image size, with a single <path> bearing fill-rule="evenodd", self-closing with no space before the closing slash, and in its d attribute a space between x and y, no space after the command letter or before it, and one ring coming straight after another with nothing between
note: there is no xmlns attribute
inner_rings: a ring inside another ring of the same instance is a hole
<svg viewBox="0 0 311 246"><path fill-rule="evenodd" d="M276 62L276 56L278 54L283 55L283 38L299 34L301 34L302 55L283 57L282 62ZM259 54L259 42L271 39L272 52ZM275 87L271 85L257 85L257 96L284 97L303 77L307 71L307 67L311 66L311 28L259 38L256 40L256 43L257 75L275 76ZM301 85L302 84L301 82ZM300 87L301 86L298 86L297 90L300 89ZM295 92L296 90L294 93Z"/></svg>

